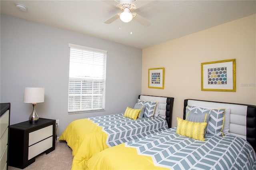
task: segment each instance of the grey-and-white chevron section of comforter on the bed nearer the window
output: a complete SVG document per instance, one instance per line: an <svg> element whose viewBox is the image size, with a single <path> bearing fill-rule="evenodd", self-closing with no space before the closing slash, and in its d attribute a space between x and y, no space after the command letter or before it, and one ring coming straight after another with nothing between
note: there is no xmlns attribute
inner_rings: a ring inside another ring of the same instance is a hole
<svg viewBox="0 0 256 170"><path fill-rule="evenodd" d="M130 140L142 138L148 134L166 130L168 128L164 117L154 119L129 119L124 113L88 118L102 127L102 131L108 134L106 144L111 147Z"/></svg>

